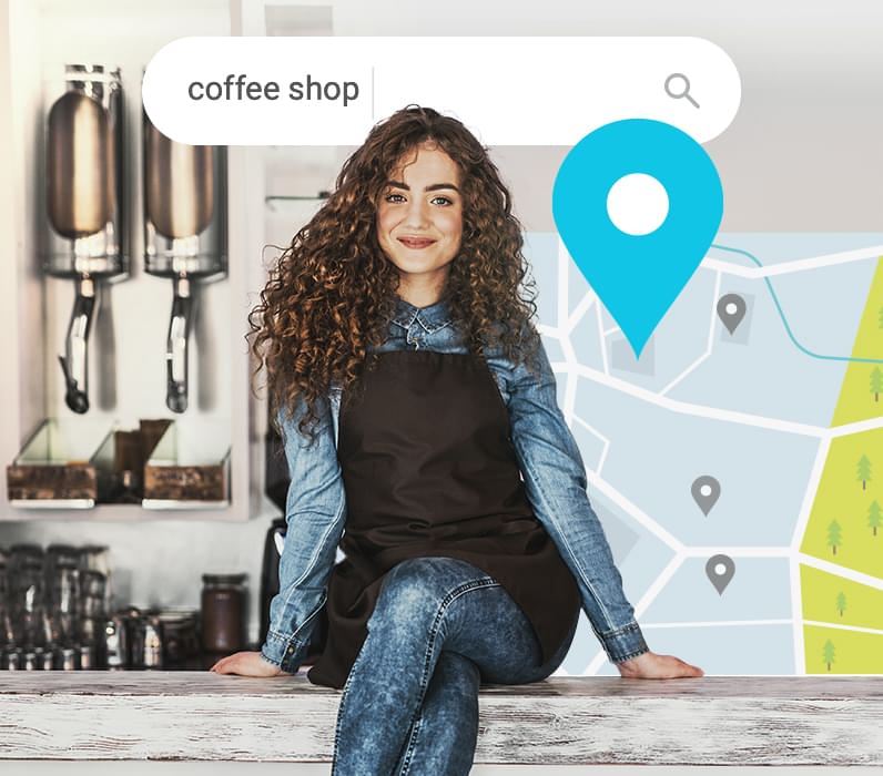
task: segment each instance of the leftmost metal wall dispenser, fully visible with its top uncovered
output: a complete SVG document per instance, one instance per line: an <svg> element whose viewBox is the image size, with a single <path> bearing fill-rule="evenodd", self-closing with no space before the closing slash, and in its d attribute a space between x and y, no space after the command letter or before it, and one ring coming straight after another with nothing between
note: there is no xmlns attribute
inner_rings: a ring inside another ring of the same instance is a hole
<svg viewBox="0 0 883 776"><path fill-rule="evenodd" d="M43 272L77 282L64 355L64 401L89 410L88 341L95 284L129 273L123 232L123 93L120 70L65 67L67 91L49 111L49 244Z"/></svg>

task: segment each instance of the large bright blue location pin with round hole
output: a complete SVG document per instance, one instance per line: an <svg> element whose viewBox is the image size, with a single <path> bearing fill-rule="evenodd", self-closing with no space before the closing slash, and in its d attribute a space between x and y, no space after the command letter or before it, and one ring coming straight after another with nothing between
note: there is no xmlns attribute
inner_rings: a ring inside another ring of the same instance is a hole
<svg viewBox="0 0 883 776"><path fill-rule="evenodd" d="M621 231L608 213L613 184L636 173L656 178L668 195L664 221L648 234ZM552 215L579 270L640 357L718 233L723 191L714 163L690 135L628 119L590 132L565 157Z"/></svg>

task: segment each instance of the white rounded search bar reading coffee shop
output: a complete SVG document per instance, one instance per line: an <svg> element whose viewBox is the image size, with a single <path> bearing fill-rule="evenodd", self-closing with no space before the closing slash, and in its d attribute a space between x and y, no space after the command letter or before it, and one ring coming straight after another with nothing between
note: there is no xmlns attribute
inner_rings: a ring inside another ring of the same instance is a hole
<svg viewBox="0 0 883 776"><path fill-rule="evenodd" d="M193 145L358 145L410 103L487 145L574 145L635 118L703 143L732 122L741 82L701 38L182 38L150 61L142 95Z"/></svg>

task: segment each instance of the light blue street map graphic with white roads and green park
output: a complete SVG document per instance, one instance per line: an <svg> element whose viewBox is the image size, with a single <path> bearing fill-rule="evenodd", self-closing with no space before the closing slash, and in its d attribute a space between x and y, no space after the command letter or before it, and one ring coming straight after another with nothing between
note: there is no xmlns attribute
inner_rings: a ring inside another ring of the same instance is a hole
<svg viewBox="0 0 883 776"><path fill-rule="evenodd" d="M525 254L650 649L883 674L883 233L718 235L640 360L557 234ZM555 675L617 674L581 615Z"/></svg>

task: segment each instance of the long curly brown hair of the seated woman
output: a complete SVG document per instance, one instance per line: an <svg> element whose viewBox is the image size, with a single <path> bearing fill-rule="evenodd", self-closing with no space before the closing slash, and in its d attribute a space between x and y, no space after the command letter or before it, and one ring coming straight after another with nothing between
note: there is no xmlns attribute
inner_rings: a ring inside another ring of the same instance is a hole
<svg viewBox="0 0 883 776"><path fill-rule="evenodd" d="M301 405L298 430L312 438L318 402L332 386L355 388L388 336L399 275L377 241L377 204L390 173L429 141L458 165L463 237L443 290L451 321L470 353L499 348L536 368L530 319L536 292L521 253L521 225L487 149L456 119L408 105L377 123L343 165L336 188L270 270L248 314L257 361L265 365L271 418ZM281 430L281 429L280 429Z"/></svg>

